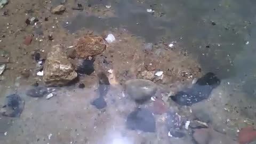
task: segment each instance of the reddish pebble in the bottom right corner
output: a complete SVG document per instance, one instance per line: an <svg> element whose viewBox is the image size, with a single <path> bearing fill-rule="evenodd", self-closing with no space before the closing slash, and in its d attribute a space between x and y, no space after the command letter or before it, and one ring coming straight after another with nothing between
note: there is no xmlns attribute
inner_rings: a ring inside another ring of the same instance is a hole
<svg viewBox="0 0 256 144"><path fill-rule="evenodd" d="M250 143L256 140L256 130L252 126L241 129L238 134L238 141L240 144Z"/></svg>

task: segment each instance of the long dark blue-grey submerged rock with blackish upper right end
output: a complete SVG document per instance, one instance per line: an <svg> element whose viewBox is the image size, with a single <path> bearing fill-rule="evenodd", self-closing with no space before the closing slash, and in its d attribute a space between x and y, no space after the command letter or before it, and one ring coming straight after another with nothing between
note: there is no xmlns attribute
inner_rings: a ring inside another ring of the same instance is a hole
<svg viewBox="0 0 256 144"><path fill-rule="evenodd" d="M184 91L179 91L171 96L171 99L181 106L191 106L209 98L211 92L220 84L220 79L213 73L207 73L197 82Z"/></svg>

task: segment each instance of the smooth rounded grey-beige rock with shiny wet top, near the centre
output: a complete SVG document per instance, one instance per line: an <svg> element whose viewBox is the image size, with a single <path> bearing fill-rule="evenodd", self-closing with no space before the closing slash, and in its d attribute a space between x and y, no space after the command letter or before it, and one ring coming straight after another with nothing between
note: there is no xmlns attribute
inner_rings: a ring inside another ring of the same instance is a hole
<svg viewBox="0 0 256 144"><path fill-rule="evenodd" d="M145 102L156 93L157 86L147 79L131 79L126 81L125 91L136 102Z"/></svg>

